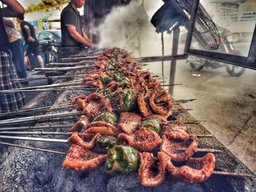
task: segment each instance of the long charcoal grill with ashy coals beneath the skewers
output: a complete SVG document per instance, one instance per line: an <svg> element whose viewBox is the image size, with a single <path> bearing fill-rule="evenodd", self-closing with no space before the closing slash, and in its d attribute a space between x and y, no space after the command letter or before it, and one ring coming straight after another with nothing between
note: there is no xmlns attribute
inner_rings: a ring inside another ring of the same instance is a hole
<svg viewBox="0 0 256 192"><path fill-rule="evenodd" d="M176 46L177 45L174 45L173 47ZM77 55L72 55L69 58L63 58L61 60L61 67L63 67L61 70L65 72L71 71L70 68L65 69L65 62L67 62L66 64L70 65L73 69L75 69L74 66L76 66L78 62L91 62L92 58L86 58L87 56L84 56L86 54L88 53L82 52ZM174 61L176 59L186 58L186 56L187 55L173 54L165 57L140 58L139 60L145 62L162 60ZM54 66L54 64L52 65ZM88 71L91 70L92 69L88 69ZM72 72L67 73L67 75L68 74L72 74ZM57 83L59 82L56 82L53 85L56 85ZM43 92L30 101L29 104L26 104L24 110L67 104L70 99L81 93L88 95L92 92L94 91L90 91L89 89L86 89L85 91L78 91L75 89L72 89L71 91L68 91L68 89L61 91L60 89L58 92ZM183 112L176 114L176 120L181 120L182 122L197 121L189 114L189 112L186 112L181 104L176 104L173 109L183 110ZM70 109L62 108L60 110L55 110L55 112L70 113ZM51 112L48 112L46 115L50 116L50 113ZM43 114L44 112L42 112L42 115ZM45 131L45 127L48 131L56 133L65 132L69 127L64 127L63 125L73 125L76 118L77 117L73 115L65 118L47 119L44 120L43 123L39 123L38 120L32 120L29 123L21 123L20 126L27 126L29 131L34 131L34 134L31 134L31 137L38 137L36 132L41 132L41 138L50 138L53 141L53 138L67 139L69 135L56 134L44 136L43 132ZM15 127L17 128L17 126ZM2 147L4 145L1 145L0 182L4 183L4 185L0 186L0 191L255 191L255 174L242 164L235 155L230 153L230 151L212 136L204 126L200 123L188 123L187 128L189 128L192 133L200 135L198 147L200 149L214 150L214 155L217 159L214 174L203 183L188 184L177 182L167 175L165 182L162 183L162 185L154 188L145 188L140 185L137 173L110 175L105 173L103 167L91 172L66 170L61 167L61 164L64 161L64 153L67 152L69 147L67 142L58 142L60 140L56 140L57 142L35 142L29 140L25 142L16 141L15 144L34 146L36 147L34 150L20 149L18 147ZM26 137L26 135L24 135L24 137ZM8 142L7 139L1 141ZM39 148L63 153L42 153L36 151ZM205 154L206 152L199 151L195 153L194 156L202 157ZM225 172L229 172L229 175L226 175ZM233 175L230 175L230 173L233 173Z"/></svg>

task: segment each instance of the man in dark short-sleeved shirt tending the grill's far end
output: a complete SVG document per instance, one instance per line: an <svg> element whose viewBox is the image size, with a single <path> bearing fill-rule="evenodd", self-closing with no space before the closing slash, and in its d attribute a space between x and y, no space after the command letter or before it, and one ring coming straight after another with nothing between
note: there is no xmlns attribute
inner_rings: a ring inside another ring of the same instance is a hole
<svg viewBox="0 0 256 192"><path fill-rule="evenodd" d="M71 0L61 12L61 46L62 52L65 53L64 57L74 54L74 50L79 50L80 47L93 46L86 33L83 32L78 12L78 8L83 7L84 4L84 0Z"/></svg>

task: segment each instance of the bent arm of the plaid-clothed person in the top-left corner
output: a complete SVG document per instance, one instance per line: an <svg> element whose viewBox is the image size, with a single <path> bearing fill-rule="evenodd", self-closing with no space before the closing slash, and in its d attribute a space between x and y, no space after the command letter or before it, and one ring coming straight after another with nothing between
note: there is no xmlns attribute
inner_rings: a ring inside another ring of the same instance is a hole
<svg viewBox="0 0 256 192"><path fill-rule="evenodd" d="M6 4L7 7L1 9L3 17L13 17L19 18L22 17L25 13L25 9L22 5L16 0L0 0L3 4Z"/></svg>

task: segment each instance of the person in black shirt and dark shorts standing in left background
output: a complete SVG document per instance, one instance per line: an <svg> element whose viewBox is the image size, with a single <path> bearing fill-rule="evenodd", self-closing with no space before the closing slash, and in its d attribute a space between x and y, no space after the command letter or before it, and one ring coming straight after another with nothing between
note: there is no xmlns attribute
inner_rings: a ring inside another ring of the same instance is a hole
<svg viewBox="0 0 256 192"><path fill-rule="evenodd" d="M39 52L39 42L37 41L37 36L35 33L35 28L29 22L23 20L23 18L18 18L20 23L20 28L25 39L26 45L28 45L28 50L26 51L26 56L33 53L37 57L37 62L41 68L44 68L44 61Z"/></svg>

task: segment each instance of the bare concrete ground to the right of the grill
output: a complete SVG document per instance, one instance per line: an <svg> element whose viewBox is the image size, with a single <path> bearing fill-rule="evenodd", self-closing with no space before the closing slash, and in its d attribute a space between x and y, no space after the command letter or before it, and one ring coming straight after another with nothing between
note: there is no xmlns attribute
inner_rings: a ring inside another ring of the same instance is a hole
<svg viewBox="0 0 256 192"><path fill-rule="evenodd" d="M161 65L148 68L161 74ZM169 72L166 62L165 77ZM196 98L184 107L192 108L197 120L206 120L203 126L256 173L256 99L249 96L256 93L256 71L246 69L241 77L231 77L225 68L195 72L186 61L178 61L175 82L182 85L175 86L174 98Z"/></svg>

